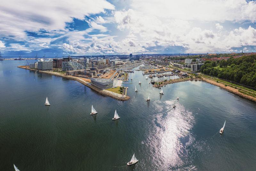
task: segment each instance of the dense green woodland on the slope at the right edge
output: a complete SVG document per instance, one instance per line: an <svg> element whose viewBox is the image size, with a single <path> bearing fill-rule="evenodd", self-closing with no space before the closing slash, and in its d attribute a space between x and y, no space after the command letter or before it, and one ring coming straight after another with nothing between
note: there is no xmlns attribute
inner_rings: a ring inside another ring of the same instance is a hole
<svg viewBox="0 0 256 171"><path fill-rule="evenodd" d="M216 67L219 66L219 67ZM204 62L201 73L256 88L256 55Z"/></svg>

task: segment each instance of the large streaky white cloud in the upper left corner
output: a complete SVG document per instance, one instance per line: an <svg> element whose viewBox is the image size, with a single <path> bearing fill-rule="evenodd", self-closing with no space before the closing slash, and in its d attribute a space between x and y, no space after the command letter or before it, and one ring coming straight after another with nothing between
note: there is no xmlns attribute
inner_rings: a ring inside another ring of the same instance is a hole
<svg viewBox="0 0 256 171"><path fill-rule="evenodd" d="M66 23L73 18L83 20L84 16L105 12L105 9L114 10L115 7L106 0L3 1L0 5L0 36L21 41L27 38L24 31L65 30Z"/></svg>

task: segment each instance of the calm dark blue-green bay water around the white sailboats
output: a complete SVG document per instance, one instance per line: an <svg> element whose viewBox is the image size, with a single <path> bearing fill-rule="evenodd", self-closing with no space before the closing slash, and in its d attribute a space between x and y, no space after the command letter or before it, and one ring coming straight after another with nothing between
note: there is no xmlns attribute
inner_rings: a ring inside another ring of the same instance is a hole
<svg viewBox="0 0 256 171"><path fill-rule="evenodd" d="M0 61L1 171L255 170L254 102L200 81L166 85L161 96L140 71L120 102L22 64ZM127 167L134 152L139 162Z"/></svg>

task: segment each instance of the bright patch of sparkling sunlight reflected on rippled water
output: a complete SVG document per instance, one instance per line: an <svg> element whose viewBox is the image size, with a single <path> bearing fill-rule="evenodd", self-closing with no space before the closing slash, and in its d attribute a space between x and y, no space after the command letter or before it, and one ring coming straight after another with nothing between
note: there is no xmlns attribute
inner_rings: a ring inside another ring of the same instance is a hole
<svg viewBox="0 0 256 171"><path fill-rule="evenodd" d="M177 106L173 108L175 103ZM192 112L177 100L156 101L154 105L158 113L152 116L152 126L149 126L149 135L144 142L152 157L151 162L159 170L181 167L196 170L186 149L195 141L189 132L195 121Z"/></svg>

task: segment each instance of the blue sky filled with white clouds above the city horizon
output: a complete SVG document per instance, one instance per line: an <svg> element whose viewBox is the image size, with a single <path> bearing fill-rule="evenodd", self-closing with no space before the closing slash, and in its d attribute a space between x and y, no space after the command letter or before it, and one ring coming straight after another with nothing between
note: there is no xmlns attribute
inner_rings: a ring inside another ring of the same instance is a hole
<svg viewBox="0 0 256 171"><path fill-rule="evenodd" d="M3 56L256 52L250 0L8 0Z"/></svg>

